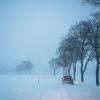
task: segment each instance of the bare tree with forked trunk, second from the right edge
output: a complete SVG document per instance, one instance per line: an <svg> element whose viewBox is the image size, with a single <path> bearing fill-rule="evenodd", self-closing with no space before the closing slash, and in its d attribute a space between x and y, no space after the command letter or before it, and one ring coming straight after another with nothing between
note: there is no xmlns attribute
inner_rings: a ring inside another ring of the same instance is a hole
<svg viewBox="0 0 100 100"><path fill-rule="evenodd" d="M77 39L78 45L78 60L81 63L81 81L84 82L84 73L91 56L89 55L89 45L87 41L87 33L90 32L90 23L87 21L80 21L73 27L71 27L71 33L73 37Z"/></svg>

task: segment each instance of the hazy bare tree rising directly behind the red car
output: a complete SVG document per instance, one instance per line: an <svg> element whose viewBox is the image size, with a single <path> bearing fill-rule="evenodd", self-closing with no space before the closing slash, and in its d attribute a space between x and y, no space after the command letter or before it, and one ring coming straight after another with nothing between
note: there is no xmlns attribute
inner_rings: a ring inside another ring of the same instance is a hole
<svg viewBox="0 0 100 100"><path fill-rule="evenodd" d="M63 72L64 72L63 74L70 76L72 60L68 46L69 46L68 39L63 38L58 48L58 56L63 65Z"/></svg>

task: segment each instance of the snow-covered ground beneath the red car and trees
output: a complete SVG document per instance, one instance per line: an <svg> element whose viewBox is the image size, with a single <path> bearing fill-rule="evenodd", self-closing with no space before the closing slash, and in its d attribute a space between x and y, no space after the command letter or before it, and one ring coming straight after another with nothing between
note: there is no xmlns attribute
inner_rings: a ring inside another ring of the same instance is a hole
<svg viewBox="0 0 100 100"><path fill-rule="evenodd" d="M75 85L65 85L61 76L0 75L0 100L100 100L94 79L81 83L78 77Z"/></svg>

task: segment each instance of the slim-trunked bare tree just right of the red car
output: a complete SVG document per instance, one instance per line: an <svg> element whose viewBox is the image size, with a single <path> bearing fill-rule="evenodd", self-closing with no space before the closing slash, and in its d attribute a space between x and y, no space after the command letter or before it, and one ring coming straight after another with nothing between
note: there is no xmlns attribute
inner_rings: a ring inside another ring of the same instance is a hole
<svg viewBox="0 0 100 100"><path fill-rule="evenodd" d="M79 59L79 42L77 41L77 39L75 37L73 37L72 35L70 35L70 33L73 30L70 28L69 30L69 36L68 36L68 42L69 42L69 53L70 53L70 57L71 57L71 61L72 61L72 66L73 66L73 78L74 80L76 79L76 63Z"/></svg>

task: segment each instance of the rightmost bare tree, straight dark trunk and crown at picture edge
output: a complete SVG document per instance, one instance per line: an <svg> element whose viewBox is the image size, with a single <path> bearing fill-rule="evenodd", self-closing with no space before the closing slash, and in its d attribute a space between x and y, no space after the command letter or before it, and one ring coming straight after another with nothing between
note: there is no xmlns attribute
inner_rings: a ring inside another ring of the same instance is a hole
<svg viewBox="0 0 100 100"><path fill-rule="evenodd" d="M88 34L88 41L91 46L94 58L96 59L96 85L99 85L100 68L100 11L92 15L91 32Z"/></svg>

